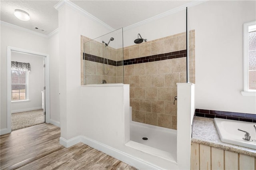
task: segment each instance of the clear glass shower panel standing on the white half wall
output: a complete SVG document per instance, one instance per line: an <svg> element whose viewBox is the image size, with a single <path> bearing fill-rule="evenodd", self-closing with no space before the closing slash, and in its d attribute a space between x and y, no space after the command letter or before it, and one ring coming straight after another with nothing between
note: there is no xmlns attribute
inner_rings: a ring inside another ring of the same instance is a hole
<svg viewBox="0 0 256 170"><path fill-rule="evenodd" d="M83 36L82 84L124 83L123 29L94 40Z"/></svg>

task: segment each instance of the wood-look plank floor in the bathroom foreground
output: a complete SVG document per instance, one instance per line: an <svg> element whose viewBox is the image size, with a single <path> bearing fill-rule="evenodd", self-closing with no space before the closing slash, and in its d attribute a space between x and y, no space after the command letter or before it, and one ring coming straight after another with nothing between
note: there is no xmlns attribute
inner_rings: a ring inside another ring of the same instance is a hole
<svg viewBox="0 0 256 170"><path fill-rule="evenodd" d="M0 136L1 170L136 170L86 144L60 145L60 128L51 124Z"/></svg>

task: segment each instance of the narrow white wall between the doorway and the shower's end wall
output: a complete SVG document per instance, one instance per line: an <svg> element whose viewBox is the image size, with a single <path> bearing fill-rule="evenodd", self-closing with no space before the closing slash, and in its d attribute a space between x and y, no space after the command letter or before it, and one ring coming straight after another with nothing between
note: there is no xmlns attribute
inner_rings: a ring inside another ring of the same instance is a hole
<svg viewBox="0 0 256 170"><path fill-rule="evenodd" d="M59 99L59 34L49 38L50 59L50 123L60 126Z"/></svg>

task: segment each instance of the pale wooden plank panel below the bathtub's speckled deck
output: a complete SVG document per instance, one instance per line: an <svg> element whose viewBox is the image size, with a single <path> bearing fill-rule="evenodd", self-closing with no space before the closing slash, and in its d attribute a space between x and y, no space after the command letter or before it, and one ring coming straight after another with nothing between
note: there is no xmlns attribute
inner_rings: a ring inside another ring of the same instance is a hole
<svg viewBox="0 0 256 170"><path fill-rule="evenodd" d="M191 143L191 170L256 170L256 158Z"/></svg>

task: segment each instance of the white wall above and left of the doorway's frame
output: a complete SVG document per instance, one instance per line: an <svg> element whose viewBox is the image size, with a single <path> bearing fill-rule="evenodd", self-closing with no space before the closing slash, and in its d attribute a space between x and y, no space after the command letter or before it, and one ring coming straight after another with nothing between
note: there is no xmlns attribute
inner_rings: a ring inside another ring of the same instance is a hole
<svg viewBox="0 0 256 170"><path fill-rule="evenodd" d="M1 112L0 129L7 128L7 46L48 53L48 40L3 24L1 26Z"/></svg>

